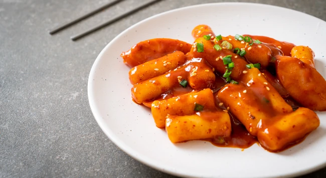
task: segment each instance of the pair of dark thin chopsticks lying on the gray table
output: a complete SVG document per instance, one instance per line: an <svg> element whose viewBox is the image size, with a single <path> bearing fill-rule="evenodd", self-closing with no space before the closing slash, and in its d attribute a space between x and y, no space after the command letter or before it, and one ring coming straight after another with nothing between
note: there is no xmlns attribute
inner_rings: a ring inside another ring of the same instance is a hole
<svg viewBox="0 0 326 178"><path fill-rule="evenodd" d="M77 18L77 19L75 19L75 20L73 20L71 22L63 24L63 25L51 30L49 33L50 33L50 35L56 34L56 33L66 29L66 28L68 28L68 27L70 27L70 26L72 26L72 25L74 25L74 24L76 24L76 23L78 23L78 22L80 22L80 21L82 21L84 19L89 18L90 16L93 16L94 14L97 14L97 13L99 13L99 12L101 12L101 11L111 7L111 6L114 6L115 4L117 4L117 3L121 2L121 1L124 1L124 0L115 0L113 2L105 4L102 7L98 8L98 9L96 9L96 10L94 10L94 11L92 11L92 12L90 12L90 13L84 15L84 16L81 16L81 17L79 17L79 18ZM76 40L78 40L78 39L80 39L82 37L85 37L86 35L89 35L89 34L95 32L95 31L97 31L97 30L99 30L99 29L101 29L101 28L103 28L105 26L108 26L108 25L110 25L110 24L112 24L112 23L114 23L114 22L116 22L116 21L118 21L118 20L120 20L120 19L122 19L124 17L127 17L127 16L129 16L129 15L131 15L131 14L133 14L133 13L135 13L135 12L137 12L137 11L147 7L147 6L150 6L150 5L154 4L154 3L157 3L159 1L161 1L161 0L152 0L152 1L149 1L149 2L147 2L145 4L137 6L137 7L135 7L134 9L132 9L132 10L130 10L128 12L125 12L125 13L123 13L121 15L118 15L118 16L115 16L115 17L109 19L107 22L104 22L103 24L100 24L100 25L98 25L98 26L96 26L94 28L91 28L91 29L89 29L89 30L87 30L85 32L82 32L80 34L74 35L74 36L70 37L70 39L72 41L76 41Z"/></svg>

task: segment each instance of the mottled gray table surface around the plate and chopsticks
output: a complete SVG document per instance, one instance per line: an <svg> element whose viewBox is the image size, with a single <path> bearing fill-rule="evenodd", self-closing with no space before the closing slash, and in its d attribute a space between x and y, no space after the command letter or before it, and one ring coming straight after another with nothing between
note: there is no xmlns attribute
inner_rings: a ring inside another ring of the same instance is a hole
<svg viewBox="0 0 326 178"><path fill-rule="evenodd" d="M224 1L165 0L77 42L70 40L141 1L127 0L49 35L53 27L110 1L0 0L0 177L174 177L131 158L102 132L88 105L89 71L104 46L131 25L168 10ZM326 20L322 0L241 2ZM326 177L326 169L302 177Z"/></svg>

